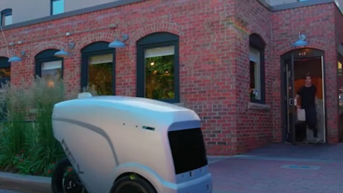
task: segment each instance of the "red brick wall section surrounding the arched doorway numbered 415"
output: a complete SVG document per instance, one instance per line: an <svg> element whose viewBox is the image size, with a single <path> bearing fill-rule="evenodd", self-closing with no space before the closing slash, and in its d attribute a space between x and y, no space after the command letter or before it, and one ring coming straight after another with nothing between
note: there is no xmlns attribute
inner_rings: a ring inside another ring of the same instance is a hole
<svg viewBox="0 0 343 193"><path fill-rule="evenodd" d="M310 48L317 48L325 52L325 82L326 82L326 120L327 139L330 143L338 140L338 92L337 92L337 60L335 42L334 3L319 4L309 7L296 8L274 12L272 15L272 45L273 66L275 74L280 74L280 56L292 48L292 43L298 39L298 32L307 36ZM341 25L341 24L340 24ZM280 76L277 75L273 93L274 125L281 127L281 96ZM281 135L276 137L280 140Z"/></svg>

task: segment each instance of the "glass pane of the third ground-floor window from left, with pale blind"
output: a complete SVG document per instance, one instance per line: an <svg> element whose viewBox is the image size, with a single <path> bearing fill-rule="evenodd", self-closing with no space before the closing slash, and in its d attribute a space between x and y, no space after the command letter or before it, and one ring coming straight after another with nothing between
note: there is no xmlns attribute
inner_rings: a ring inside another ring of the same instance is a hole
<svg viewBox="0 0 343 193"><path fill-rule="evenodd" d="M98 95L112 95L113 54L88 56L88 85Z"/></svg>

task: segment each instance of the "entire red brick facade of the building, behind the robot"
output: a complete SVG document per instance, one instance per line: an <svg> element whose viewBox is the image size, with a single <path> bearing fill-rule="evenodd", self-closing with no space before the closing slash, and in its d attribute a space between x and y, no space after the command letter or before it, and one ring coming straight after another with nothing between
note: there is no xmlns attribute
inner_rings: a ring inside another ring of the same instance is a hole
<svg viewBox="0 0 343 193"><path fill-rule="evenodd" d="M80 89L81 49L95 41L111 42L115 33L129 34L127 47L116 50L116 93L136 94L136 41L154 32L180 36L181 103L203 119L208 153L229 155L281 140L280 55L291 50L298 31L311 47L326 51L327 112L330 142L337 133L334 4L269 12L256 0L147 0L5 31L20 63L12 64L12 83L34 75L34 56L64 48L64 80ZM304 16L305 15L305 16ZM302 18L299 19L299 18ZM310 23L316 25L310 25ZM117 24L117 31L109 28ZM70 32L70 36L65 36ZM272 33L273 32L273 33ZM266 102L270 111L248 109L249 35L265 41ZM328 41L326 41L328 39ZM68 43L75 43L68 49ZM7 49L0 41L0 56ZM10 48L10 50L12 50Z"/></svg>

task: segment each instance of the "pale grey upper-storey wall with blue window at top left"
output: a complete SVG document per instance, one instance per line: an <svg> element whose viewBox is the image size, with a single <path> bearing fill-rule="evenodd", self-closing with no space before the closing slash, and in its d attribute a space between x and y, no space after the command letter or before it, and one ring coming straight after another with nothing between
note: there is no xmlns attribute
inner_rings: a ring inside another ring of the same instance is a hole
<svg viewBox="0 0 343 193"><path fill-rule="evenodd" d="M1 0L0 11L12 9L12 18L1 14L1 25L34 20L118 0ZM7 19L7 22L5 22Z"/></svg>

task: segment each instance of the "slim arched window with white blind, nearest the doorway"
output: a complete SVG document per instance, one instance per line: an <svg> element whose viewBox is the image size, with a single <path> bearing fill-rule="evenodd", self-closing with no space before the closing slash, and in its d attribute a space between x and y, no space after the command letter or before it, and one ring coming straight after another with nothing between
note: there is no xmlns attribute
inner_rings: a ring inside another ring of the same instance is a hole
<svg viewBox="0 0 343 193"><path fill-rule="evenodd" d="M250 101L265 103L264 41L257 34L249 36Z"/></svg>

